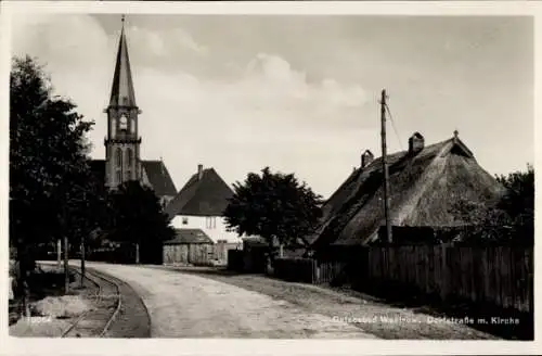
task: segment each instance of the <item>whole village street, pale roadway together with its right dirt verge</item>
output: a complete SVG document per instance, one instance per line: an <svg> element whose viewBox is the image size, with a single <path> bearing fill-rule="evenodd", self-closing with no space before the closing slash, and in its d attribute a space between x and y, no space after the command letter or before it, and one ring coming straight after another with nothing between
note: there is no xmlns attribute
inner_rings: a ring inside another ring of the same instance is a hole
<svg viewBox="0 0 542 356"><path fill-rule="evenodd" d="M464 325L431 322L423 313L263 276L88 266L136 290L149 309L152 338L494 339Z"/></svg>

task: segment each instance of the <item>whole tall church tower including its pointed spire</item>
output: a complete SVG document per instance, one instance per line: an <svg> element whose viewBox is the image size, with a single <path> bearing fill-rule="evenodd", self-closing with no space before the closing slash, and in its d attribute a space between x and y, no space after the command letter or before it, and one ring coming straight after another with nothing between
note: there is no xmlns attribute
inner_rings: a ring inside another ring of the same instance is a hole
<svg viewBox="0 0 542 356"><path fill-rule="evenodd" d="M138 115L141 111L136 104L124 16L109 105L104 113L107 114L105 185L114 189L125 181L142 179L141 137L138 137Z"/></svg>

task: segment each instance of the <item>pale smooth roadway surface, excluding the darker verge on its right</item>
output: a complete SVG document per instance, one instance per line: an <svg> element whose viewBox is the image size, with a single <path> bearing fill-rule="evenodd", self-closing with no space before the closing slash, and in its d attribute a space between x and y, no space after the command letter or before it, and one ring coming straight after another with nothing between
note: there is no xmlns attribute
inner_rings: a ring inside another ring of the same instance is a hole
<svg viewBox="0 0 542 356"><path fill-rule="evenodd" d="M153 338L373 339L359 328L220 281L136 266L88 264L129 283L151 316Z"/></svg>

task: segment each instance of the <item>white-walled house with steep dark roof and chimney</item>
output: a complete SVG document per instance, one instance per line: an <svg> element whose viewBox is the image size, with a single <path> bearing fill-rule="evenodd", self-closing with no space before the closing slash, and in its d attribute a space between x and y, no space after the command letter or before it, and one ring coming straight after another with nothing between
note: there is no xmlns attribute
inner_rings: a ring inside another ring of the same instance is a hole
<svg viewBox="0 0 542 356"><path fill-rule="evenodd" d="M176 229L201 229L215 243L241 244L242 240L227 228L223 212L232 189L214 168L197 166L179 193L166 206L165 213Z"/></svg>

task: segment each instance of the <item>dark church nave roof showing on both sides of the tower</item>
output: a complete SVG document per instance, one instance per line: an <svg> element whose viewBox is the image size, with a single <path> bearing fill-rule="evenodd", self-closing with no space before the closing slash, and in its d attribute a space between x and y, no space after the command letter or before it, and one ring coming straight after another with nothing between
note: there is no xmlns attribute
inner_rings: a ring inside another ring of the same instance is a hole
<svg viewBox="0 0 542 356"><path fill-rule="evenodd" d="M151 187L158 196L170 195L177 193L171 176L162 161L141 161L141 166L145 171ZM90 168L98 179L105 180L105 161L92 160Z"/></svg>

